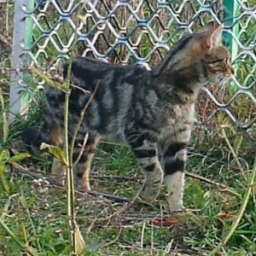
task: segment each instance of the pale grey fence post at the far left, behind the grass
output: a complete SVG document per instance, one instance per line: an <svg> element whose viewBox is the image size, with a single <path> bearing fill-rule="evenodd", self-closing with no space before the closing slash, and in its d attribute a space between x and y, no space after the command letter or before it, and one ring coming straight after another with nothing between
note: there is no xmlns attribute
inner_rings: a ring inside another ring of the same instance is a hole
<svg viewBox="0 0 256 256"><path fill-rule="evenodd" d="M20 85L23 83L22 80L24 79L23 72L20 71L20 69L22 70L24 67L21 55L24 52L24 49L29 48L29 40L32 42L32 26L26 26L29 21L26 21L24 12L25 7L27 10L32 8L33 5L29 3L31 1L33 2L33 0L15 1L15 20L11 65L12 71L10 75L11 81L9 90L9 122L14 121L15 118L19 116L24 109L26 109L24 94L23 92L20 92Z"/></svg>

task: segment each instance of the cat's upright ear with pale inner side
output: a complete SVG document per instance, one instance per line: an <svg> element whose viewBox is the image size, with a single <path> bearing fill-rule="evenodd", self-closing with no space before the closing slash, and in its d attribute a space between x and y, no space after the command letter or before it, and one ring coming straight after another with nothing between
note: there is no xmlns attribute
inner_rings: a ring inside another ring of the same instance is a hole
<svg viewBox="0 0 256 256"><path fill-rule="evenodd" d="M208 31L206 31L208 28ZM209 49L212 48L212 46L220 45L222 44L222 33L223 33L224 25L216 26L216 25L209 25L207 24L206 27L203 28L203 31L207 32L207 47Z"/></svg>

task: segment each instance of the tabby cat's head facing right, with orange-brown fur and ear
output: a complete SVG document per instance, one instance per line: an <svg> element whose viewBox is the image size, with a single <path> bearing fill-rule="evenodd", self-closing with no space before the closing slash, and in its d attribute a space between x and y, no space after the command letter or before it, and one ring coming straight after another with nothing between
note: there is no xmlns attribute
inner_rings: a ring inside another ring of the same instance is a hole
<svg viewBox="0 0 256 256"><path fill-rule="evenodd" d="M223 85L234 74L230 52L222 44L224 26L209 22L195 33L194 54L199 57L207 82Z"/></svg>

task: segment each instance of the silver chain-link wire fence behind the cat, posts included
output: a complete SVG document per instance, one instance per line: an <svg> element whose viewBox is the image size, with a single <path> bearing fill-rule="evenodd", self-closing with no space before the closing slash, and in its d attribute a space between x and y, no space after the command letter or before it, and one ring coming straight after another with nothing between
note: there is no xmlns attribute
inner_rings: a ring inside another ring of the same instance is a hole
<svg viewBox="0 0 256 256"><path fill-rule="evenodd" d="M84 8L78 17L80 4ZM197 119L205 125L230 120L256 139L254 0L15 1L13 62L21 68L26 60L50 73L68 58L77 32L76 55L150 68L184 33L196 31L208 20L224 22L224 44L232 53L236 79L224 91L217 86L203 90ZM35 90L29 75L13 72L11 79L10 107L18 113L23 104L20 90L26 103Z"/></svg>

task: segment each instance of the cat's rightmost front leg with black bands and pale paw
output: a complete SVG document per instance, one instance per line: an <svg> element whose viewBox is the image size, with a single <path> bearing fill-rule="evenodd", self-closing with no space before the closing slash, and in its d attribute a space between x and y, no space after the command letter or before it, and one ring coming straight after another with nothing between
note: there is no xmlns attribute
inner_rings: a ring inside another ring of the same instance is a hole
<svg viewBox="0 0 256 256"><path fill-rule="evenodd" d="M183 209L186 148L187 143L169 143L164 148L165 182L172 213Z"/></svg>

